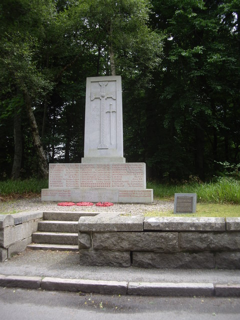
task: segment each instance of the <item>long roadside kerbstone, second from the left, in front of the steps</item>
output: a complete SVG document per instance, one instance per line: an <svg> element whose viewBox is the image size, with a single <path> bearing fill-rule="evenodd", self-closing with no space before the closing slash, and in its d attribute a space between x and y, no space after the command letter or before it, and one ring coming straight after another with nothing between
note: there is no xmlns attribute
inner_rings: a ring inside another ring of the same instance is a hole
<svg viewBox="0 0 240 320"><path fill-rule="evenodd" d="M99 294L126 294L127 282L88 280L88 279L61 279L44 277L41 280L43 290L62 290L72 292L94 292Z"/></svg>

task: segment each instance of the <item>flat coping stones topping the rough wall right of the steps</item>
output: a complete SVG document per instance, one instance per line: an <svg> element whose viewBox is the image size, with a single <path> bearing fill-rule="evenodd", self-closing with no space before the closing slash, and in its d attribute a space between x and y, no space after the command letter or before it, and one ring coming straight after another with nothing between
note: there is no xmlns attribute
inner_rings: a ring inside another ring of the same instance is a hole
<svg viewBox="0 0 240 320"><path fill-rule="evenodd" d="M240 217L129 216L119 212L81 216L79 231L239 231Z"/></svg>

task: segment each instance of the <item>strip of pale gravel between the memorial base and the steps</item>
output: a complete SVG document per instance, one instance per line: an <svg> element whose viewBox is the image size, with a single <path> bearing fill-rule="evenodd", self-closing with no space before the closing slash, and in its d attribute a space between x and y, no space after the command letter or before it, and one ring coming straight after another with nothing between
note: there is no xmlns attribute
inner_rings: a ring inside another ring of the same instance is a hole
<svg viewBox="0 0 240 320"><path fill-rule="evenodd" d="M124 212L132 215L143 215L145 212L173 211L173 201L154 200L153 203L114 203L112 206L59 206L58 202L41 201L40 197L22 198L0 201L0 213L16 213L21 211L94 211Z"/></svg>

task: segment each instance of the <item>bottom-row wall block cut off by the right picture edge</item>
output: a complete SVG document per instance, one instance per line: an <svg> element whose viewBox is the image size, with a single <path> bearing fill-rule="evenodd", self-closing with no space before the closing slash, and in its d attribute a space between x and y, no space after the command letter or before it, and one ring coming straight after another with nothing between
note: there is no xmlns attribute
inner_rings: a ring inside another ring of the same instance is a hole
<svg viewBox="0 0 240 320"><path fill-rule="evenodd" d="M240 252L216 252L215 263L217 268L240 269Z"/></svg>

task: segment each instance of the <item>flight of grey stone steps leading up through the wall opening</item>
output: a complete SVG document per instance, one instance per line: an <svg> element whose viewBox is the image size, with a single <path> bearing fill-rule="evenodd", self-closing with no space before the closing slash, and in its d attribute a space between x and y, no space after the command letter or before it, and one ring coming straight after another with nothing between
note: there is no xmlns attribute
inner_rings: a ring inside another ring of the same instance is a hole
<svg viewBox="0 0 240 320"><path fill-rule="evenodd" d="M41 250L78 250L78 219L95 212L43 212L32 242L27 247Z"/></svg>

